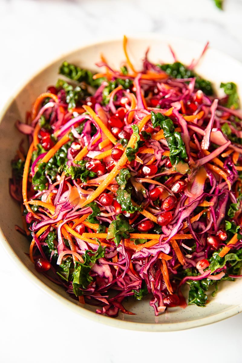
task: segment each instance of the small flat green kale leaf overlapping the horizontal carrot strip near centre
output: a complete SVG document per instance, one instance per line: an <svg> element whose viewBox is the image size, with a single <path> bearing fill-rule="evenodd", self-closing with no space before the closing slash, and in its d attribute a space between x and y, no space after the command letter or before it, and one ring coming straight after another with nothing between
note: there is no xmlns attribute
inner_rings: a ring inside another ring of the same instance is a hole
<svg viewBox="0 0 242 363"><path fill-rule="evenodd" d="M122 214L119 214L116 218L108 227L107 240L114 239L116 246L118 246L122 238L130 238L129 232L133 232L134 228L131 227Z"/></svg>

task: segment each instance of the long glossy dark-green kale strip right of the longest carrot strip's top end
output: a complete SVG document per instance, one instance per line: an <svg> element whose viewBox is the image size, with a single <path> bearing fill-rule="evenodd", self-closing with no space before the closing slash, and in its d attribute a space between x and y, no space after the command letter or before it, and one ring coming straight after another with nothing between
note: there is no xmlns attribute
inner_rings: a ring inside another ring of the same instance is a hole
<svg viewBox="0 0 242 363"><path fill-rule="evenodd" d="M160 126L164 131L170 149L170 160L172 165L176 165L180 160L183 162L187 159L185 144L181 138L180 132L175 131L175 127L170 118L165 117L161 113L151 111L151 122L153 127Z"/></svg>

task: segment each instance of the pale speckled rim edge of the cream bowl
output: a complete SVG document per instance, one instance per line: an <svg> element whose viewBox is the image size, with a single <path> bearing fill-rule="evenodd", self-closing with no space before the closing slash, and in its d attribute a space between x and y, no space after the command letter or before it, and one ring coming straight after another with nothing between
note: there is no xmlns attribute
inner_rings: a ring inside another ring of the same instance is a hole
<svg viewBox="0 0 242 363"><path fill-rule="evenodd" d="M189 42L189 45L200 45L202 48L202 44L200 42L196 42L193 40L189 40L182 37L171 37L166 36L165 34L153 34L153 33L145 33L137 35L128 34L128 38L132 38L133 40L163 40L166 41L167 44L176 41L187 41ZM81 51L87 48L92 48L95 45L101 45L106 44L110 41L120 41L122 40L122 37L109 37L105 40L95 41L87 44L82 45L79 48L75 48L67 53L63 53L60 56L56 57L54 60L50 61L48 64L43 66L38 72L34 73L32 76L30 76L28 79L26 79L22 85L19 87L19 89L15 92L14 95L9 97L8 101L5 103L5 106L0 111L0 123L3 119L5 113L7 112L8 108L11 106L11 103L14 101L14 99L21 93L21 91L30 83L34 77L38 76L41 72L43 72L46 68L51 66L54 62L61 60L63 57L68 57L70 54L75 53L77 51ZM211 48L210 48L211 49ZM213 49L213 48L212 48ZM226 56L227 59L230 59L233 62L236 62L238 66L242 66L242 63L236 60L235 58L227 55L224 52L221 52L219 50L213 49L214 52L216 52L220 56ZM162 323L139 323L139 322L128 322L128 321L122 321L115 318L110 318L105 315L99 315L96 314L93 311L89 311L85 309L85 307L76 305L74 302L71 302L67 298L63 297L62 295L58 294L58 292L52 290L51 287L47 286L44 282L38 279L37 276L35 276L28 268L25 266L24 262L21 261L19 256L16 255L13 248L9 244L7 238L5 237L1 226L0 226L0 241L2 242L4 249L9 254L9 256L12 258L12 260L15 262L17 267L21 270L21 272L38 288L43 290L45 293L48 293L52 298L56 299L58 302L61 302L63 305L65 305L68 309L71 309L73 312L82 315L83 318L91 319L92 321L103 323L105 325L109 325L115 328L122 328L122 329L129 329L129 330L137 330L137 331L150 331L150 332L167 332L167 331L179 331L179 330L186 330L191 329L194 327L204 326L208 324L212 324L221 320L224 320L226 318L232 317L238 313L242 312L242 303L237 306L232 306L229 310L222 311L221 313L216 313L208 317L202 317L201 319L196 319L193 321L185 321L185 322L176 322L176 323L169 323L169 324L162 324Z"/></svg>

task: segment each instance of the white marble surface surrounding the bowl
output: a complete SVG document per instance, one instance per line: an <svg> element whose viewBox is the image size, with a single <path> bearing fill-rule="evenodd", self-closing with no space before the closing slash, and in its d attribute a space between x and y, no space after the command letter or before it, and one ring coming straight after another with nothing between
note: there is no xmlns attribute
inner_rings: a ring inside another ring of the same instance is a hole
<svg viewBox="0 0 242 363"><path fill-rule="evenodd" d="M196 39L242 61L242 1L0 0L0 108L26 79L89 41L156 32ZM241 362L242 314L176 333L120 331L71 311L22 276L0 244L0 361ZM227 342L226 344L223 342Z"/></svg>

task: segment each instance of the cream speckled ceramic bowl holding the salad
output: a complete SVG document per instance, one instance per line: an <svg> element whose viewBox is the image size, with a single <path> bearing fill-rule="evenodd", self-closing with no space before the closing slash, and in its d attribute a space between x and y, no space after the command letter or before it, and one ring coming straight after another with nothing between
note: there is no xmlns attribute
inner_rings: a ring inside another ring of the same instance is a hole
<svg viewBox="0 0 242 363"><path fill-rule="evenodd" d="M197 58L203 45L196 42L167 38L152 35L147 38L128 39L128 52L135 67L141 65L141 59L147 48L150 48L149 59L153 62L173 62L168 44L175 50L179 61L190 64L193 58ZM149 299L134 301L130 299L124 305L136 315L120 313L117 318L110 318L95 313L95 307L88 304L81 305L71 299L65 290L53 284L47 278L38 274L34 265L30 262L28 253L29 243L25 237L15 231L14 225L21 225L19 205L9 196L8 179L11 176L10 162L15 155L17 145L22 135L16 130L16 119L24 120L26 110L30 109L36 97L46 90L46 86L54 85L58 78L58 68L62 61L67 60L82 68L97 69L95 63L100 60L103 53L111 66L119 68L125 60L122 39L105 41L98 44L85 46L67 54L65 57L54 61L36 76L34 76L21 91L13 97L0 117L0 240L7 252L18 264L19 268L31 278L34 284L63 303L63 311L67 308L77 314L93 319L104 324L113 325L134 330L147 331L173 331L201 326L227 317L231 317L242 311L242 280L221 284L219 292L206 307L188 306L186 309L174 307L165 311L159 317L155 317L153 308L149 306ZM233 81L239 86L242 99L242 65L226 54L213 49L208 49L205 56L196 67L198 74L214 82L219 88L220 82ZM21 281L19 281L21 283ZM9 299L11 297L8 297Z"/></svg>

